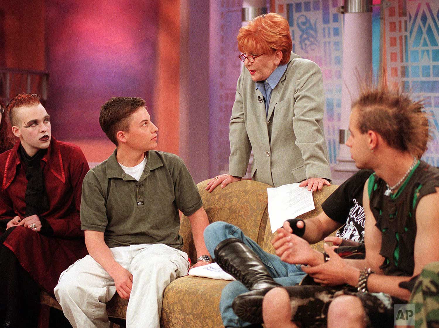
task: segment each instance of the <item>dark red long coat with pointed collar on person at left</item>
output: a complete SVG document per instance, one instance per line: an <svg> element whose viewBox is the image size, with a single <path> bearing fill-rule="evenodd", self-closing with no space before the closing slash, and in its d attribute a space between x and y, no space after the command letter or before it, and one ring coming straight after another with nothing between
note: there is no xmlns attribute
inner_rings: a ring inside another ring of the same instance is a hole
<svg viewBox="0 0 439 328"><path fill-rule="evenodd" d="M0 154L0 220L25 215L27 179L14 148ZM84 176L89 170L80 148L54 137L41 160L49 210L42 213L52 227L50 237L18 226L4 241L22 267L40 286L53 295L59 275L70 264L87 254L81 230L79 206Z"/></svg>

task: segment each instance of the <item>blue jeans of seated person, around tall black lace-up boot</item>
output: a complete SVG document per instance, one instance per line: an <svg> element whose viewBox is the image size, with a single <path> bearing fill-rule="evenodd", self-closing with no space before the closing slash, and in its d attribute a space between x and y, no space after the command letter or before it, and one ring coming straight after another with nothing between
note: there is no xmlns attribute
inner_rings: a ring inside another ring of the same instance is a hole
<svg viewBox="0 0 439 328"><path fill-rule="evenodd" d="M244 235L237 226L226 222L213 222L204 231L204 241L212 257L214 256L213 251L216 245L228 238L241 239L265 264L274 281L281 285L297 285L305 276L305 272L300 269L299 265L285 263L277 255L265 252L256 242ZM224 287L221 300L219 301L219 310L221 311L221 318L225 327L245 327L250 325L249 322L238 318L232 310L232 302L235 297L245 292L248 292L248 289L238 281L230 282L230 284Z"/></svg>

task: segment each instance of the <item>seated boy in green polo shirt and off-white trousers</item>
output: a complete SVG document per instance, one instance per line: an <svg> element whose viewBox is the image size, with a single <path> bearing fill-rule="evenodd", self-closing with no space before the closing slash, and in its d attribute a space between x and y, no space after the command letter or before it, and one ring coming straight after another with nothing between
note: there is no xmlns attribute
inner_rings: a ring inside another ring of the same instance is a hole
<svg viewBox="0 0 439 328"><path fill-rule="evenodd" d="M61 274L55 295L73 327L109 327L105 302L118 292L129 299L126 327L159 328L163 291L189 266L178 210L191 222L196 265L210 261L203 238L209 221L183 161L154 150L158 128L144 100L113 97L99 122L116 150L83 182L90 255Z"/></svg>

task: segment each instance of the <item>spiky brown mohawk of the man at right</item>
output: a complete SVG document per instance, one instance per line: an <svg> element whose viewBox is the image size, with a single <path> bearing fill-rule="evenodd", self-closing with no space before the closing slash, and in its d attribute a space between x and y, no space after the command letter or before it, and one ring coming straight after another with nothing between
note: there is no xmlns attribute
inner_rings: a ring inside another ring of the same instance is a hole
<svg viewBox="0 0 439 328"><path fill-rule="evenodd" d="M375 131L390 147L408 151L418 159L427 150L428 114L422 111L422 100L414 101L410 94L381 83L378 87L362 86L352 108L358 113L361 133Z"/></svg>

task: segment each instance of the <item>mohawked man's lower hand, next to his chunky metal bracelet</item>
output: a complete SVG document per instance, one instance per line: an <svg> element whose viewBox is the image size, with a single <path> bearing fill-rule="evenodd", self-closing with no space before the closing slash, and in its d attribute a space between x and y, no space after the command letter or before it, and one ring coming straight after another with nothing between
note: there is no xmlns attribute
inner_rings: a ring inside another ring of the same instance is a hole
<svg viewBox="0 0 439 328"><path fill-rule="evenodd" d="M314 281L325 286L336 286L358 282L360 270L348 265L337 253L336 246L324 244L324 248L329 255L329 260L324 264L315 267L302 265L303 272L314 278Z"/></svg>

